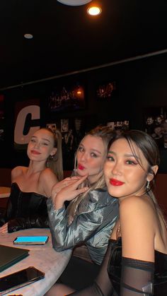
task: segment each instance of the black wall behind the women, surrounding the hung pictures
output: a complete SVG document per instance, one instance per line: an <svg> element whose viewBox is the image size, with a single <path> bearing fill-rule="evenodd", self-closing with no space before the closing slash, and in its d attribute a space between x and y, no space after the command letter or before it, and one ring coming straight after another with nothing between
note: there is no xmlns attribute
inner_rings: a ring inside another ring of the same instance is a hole
<svg viewBox="0 0 167 296"><path fill-rule="evenodd" d="M86 130L97 124L129 120L130 129L144 130L146 108L167 107L167 54L129 61L93 71L67 76L57 80L25 85L3 91L5 96L4 141L1 141L0 167L27 165L25 151L13 148L14 107L23 100L40 99L40 126L62 118L84 117ZM74 112L47 112L47 98L55 85L74 81L85 85L86 108ZM116 81L117 92L110 100L97 100L96 88L100 83ZM167 149L161 148L160 172L167 172Z"/></svg>

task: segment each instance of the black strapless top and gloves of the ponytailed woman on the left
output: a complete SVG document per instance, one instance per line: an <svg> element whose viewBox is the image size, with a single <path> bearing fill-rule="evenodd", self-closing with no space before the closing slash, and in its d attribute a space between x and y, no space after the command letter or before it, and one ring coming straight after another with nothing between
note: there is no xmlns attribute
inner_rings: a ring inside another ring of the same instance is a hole
<svg viewBox="0 0 167 296"><path fill-rule="evenodd" d="M4 223L8 222L8 232L48 227L46 201L46 196L35 192L23 192L17 183L13 183L4 215Z"/></svg>

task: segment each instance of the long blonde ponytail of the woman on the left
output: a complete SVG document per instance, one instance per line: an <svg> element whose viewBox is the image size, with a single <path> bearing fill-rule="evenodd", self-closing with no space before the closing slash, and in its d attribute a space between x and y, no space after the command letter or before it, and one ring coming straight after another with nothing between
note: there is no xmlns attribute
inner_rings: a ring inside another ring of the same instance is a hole
<svg viewBox="0 0 167 296"><path fill-rule="evenodd" d="M59 181L62 181L63 179L62 134L58 129L56 129L55 131L52 131L52 129L50 128L44 128L44 129L47 129L47 131L50 131L52 133L54 137L54 148L57 148L57 153L47 158L47 167L50 167L50 169L54 172L54 174L57 175L57 179Z"/></svg>

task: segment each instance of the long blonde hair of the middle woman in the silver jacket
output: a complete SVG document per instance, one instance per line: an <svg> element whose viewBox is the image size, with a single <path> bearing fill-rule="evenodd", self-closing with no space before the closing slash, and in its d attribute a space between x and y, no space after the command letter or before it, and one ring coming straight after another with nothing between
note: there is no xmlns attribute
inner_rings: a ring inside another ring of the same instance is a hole
<svg viewBox="0 0 167 296"><path fill-rule="evenodd" d="M96 128L91 129L91 131L89 131L86 134L86 136L94 136L94 137L102 138L103 144L105 147L105 158L106 158L107 153L108 153L108 143L115 136L115 132L112 129L110 129L110 127L108 127L108 126L96 126ZM81 140L79 147L80 147L81 143L84 141L84 139L86 138L86 136L84 136L84 138ZM78 151L79 151L79 148L76 150L76 156L75 156L75 168L74 168L75 174L76 174L76 162L77 162ZM69 203L69 206L67 208L69 224L74 220L74 215L76 215L76 211L79 206L79 203L81 203L81 201L87 196L88 192L92 191L94 189L103 189L106 186L103 170L100 174L100 177L98 178L98 180L95 183L90 184L90 182L88 182L88 179L86 179L80 185L80 188L85 187L85 186L89 187L88 191L84 192L83 194L79 194L79 196L77 196L76 199L73 199L73 201L71 201Z"/></svg>

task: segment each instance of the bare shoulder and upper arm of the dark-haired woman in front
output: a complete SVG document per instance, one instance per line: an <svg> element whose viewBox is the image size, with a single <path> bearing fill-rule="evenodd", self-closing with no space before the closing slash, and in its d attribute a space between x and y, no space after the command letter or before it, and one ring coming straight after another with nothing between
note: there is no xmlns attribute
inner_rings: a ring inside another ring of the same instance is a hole
<svg viewBox="0 0 167 296"><path fill-rule="evenodd" d="M120 230L122 256L154 261L156 216L149 196L129 196L120 202Z"/></svg>

